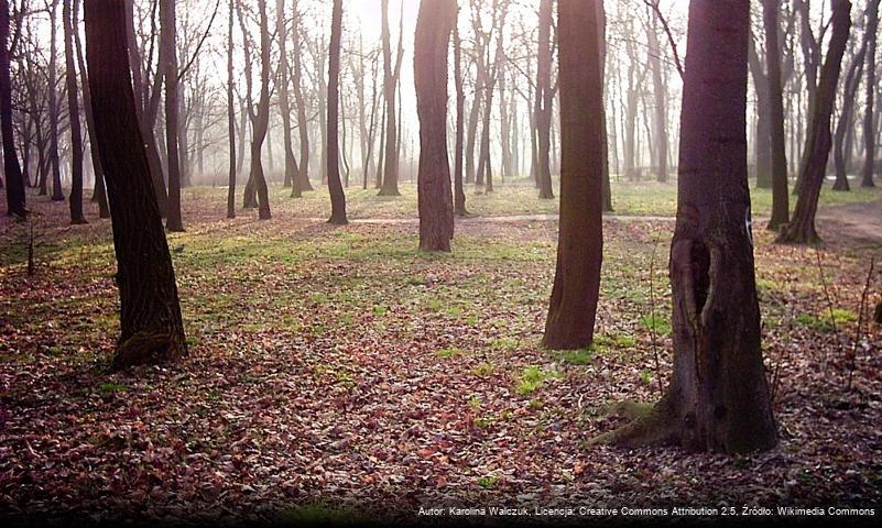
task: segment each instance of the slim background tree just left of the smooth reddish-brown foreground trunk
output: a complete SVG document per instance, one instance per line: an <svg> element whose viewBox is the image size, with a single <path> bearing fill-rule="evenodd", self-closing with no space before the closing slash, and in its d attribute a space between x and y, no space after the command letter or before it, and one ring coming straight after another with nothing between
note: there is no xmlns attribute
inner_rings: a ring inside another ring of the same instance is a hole
<svg viewBox="0 0 882 528"><path fill-rule="evenodd" d="M552 148L552 106L554 91L552 90L552 0L540 1L540 36L538 58L536 70L536 114L537 138L537 177L540 184L540 198L554 198L552 188L552 169L548 160Z"/></svg>

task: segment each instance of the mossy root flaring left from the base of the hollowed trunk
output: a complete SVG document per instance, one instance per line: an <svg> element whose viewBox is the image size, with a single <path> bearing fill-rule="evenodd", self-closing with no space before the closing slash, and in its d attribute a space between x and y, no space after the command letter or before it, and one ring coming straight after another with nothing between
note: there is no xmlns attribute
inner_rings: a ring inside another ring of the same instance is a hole
<svg viewBox="0 0 882 528"><path fill-rule="evenodd" d="M590 440L590 444L640 448L676 443L676 433L665 399L654 406L635 402L613 405L608 416L623 416L631 421Z"/></svg>

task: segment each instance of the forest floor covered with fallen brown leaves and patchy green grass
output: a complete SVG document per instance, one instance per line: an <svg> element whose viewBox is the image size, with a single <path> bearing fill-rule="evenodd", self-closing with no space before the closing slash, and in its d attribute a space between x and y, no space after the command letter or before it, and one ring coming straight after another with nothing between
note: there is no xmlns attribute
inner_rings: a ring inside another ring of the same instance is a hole
<svg viewBox="0 0 882 528"><path fill-rule="evenodd" d="M818 250L775 245L755 222L781 442L734 458L589 444L622 424L612 404L651 403L668 377L673 222L655 217L673 213L675 186L617 195L632 218L605 221L597 342L567 353L540 346L555 201L516 187L469 196L475 213L529 218L460 221L453 254L437 255L416 250L413 222L335 228L309 220L327 215L326 193L285 193L273 189L261 222L226 220L224 189L185 191L188 231L168 240L189 356L118 374L109 222L89 205L90 223L70 227L65 202L33 197L29 276L29 224L0 220L0 515L882 504L882 328L864 318L856 341L873 255L882 268L882 191L825 193ZM411 186L399 199L359 193L353 218L414 216ZM882 274L870 283L874 304Z"/></svg>

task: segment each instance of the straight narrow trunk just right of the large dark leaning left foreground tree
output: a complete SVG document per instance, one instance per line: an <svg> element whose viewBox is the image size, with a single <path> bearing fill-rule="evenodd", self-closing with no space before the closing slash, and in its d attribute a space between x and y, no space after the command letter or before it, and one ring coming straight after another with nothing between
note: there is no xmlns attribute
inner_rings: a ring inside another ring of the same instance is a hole
<svg viewBox="0 0 882 528"><path fill-rule="evenodd" d="M160 46L163 76L165 77L165 151L168 164L168 209L165 228L172 232L183 232L181 218L181 155L178 151L178 72L177 72L177 16L175 0L160 2L162 29Z"/></svg>

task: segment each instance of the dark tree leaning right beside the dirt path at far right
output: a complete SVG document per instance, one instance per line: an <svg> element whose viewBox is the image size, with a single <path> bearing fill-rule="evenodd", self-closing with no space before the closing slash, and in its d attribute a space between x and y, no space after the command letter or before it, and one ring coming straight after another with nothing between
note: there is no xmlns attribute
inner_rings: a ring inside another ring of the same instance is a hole
<svg viewBox="0 0 882 528"><path fill-rule="evenodd" d="M849 0L832 0L832 35L813 99L812 121L799 168L799 196L791 223L781 230L777 238L780 243L812 244L820 241L815 229L815 215L832 146L830 119L836 102L842 55L846 53L848 34L851 30L851 2Z"/></svg>

